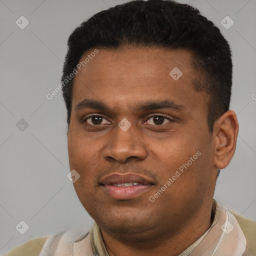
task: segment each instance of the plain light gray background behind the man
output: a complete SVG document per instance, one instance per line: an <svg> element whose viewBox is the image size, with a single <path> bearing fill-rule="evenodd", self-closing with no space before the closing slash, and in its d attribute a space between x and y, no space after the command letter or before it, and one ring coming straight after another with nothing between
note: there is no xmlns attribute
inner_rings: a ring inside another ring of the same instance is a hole
<svg viewBox="0 0 256 256"><path fill-rule="evenodd" d="M71 31L94 13L123 2L126 0L0 0L0 254L33 237L73 227L89 229L93 222L66 177L62 95L48 100L46 94L60 82ZM230 108L237 113L240 129L235 155L221 171L215 198L256 220L256 1L179 2L199 8L231 45ZM15 24L21 15L29 21L24 29ZM229 29L220 23L226 15L234 21ZM23 131L16 126L21 118L29 124ZM15 229L21 220L29 226L23 235Z"/></svg>

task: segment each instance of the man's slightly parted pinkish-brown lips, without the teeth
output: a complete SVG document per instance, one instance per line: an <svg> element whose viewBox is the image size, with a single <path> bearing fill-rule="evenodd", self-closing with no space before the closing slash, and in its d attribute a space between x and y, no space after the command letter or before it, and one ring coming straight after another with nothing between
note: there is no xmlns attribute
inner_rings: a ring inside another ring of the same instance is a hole
<svg viewBox="0 0 256 256"><path fill-rule="evenodd" d="M127 187L113 185L115 183L130 182L138 182L140 184ZM150 178L135 173L112 173L103 177L100 180L100 185L103 188L104 192L113 199L127 200L138 197L142 193L148 191L153 185L153 182Z"/></svg>

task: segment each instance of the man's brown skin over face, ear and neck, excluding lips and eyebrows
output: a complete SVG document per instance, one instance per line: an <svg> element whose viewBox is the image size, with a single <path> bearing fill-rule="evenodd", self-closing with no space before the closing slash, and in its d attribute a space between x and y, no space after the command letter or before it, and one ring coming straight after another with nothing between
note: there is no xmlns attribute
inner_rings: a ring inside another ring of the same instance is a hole
<svg viewBox="0 0 256 256"><path fill-rule="evenodd" d="M83 54L81 60L93 49ZM228 110L207 124L209 95L195 91L192 54L184 49L98 48L75 75L68 128L70 169L80 178L74 188L101 228L112 255L177 255L211 225L217 168L233 156L238 123ZM182 76L172 79L178 67ZM98 100L108 110L79 108ZM144 101L172 100L180 109L143 110ZM99 124L91 114L102 116ZM157 124L153 115L166 116ZM126 118L127 131L118 127ZM85 120L86 119L86 120ZM149 200L196 152L201 153L154 202ZM149 190L129 200L108 196L99 180L113 172L137 173L152 181Z"/></svg>

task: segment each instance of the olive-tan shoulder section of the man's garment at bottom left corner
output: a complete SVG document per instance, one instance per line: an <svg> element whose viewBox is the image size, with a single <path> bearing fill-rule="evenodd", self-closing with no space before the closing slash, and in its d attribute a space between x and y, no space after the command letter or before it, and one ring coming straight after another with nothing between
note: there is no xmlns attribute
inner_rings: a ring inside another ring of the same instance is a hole
<svg viewBox="0 0 256 256"><path fill-rule="evenodd" d="M38 256L48 236L41 236L30 239L27 242L16 246L3 256Z"/></svg>

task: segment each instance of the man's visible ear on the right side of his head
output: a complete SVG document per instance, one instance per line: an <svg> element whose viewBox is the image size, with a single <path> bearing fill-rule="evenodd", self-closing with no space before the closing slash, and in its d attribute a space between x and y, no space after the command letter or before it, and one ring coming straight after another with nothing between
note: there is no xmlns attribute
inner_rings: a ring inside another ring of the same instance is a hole
<svg viewBox="0 0 256 256"><path fill-rule="evenodd" d="M223 113L213 126L215 155L214 166L225 168L233 157L238 135L238 121L232 110Z"/></svg>

